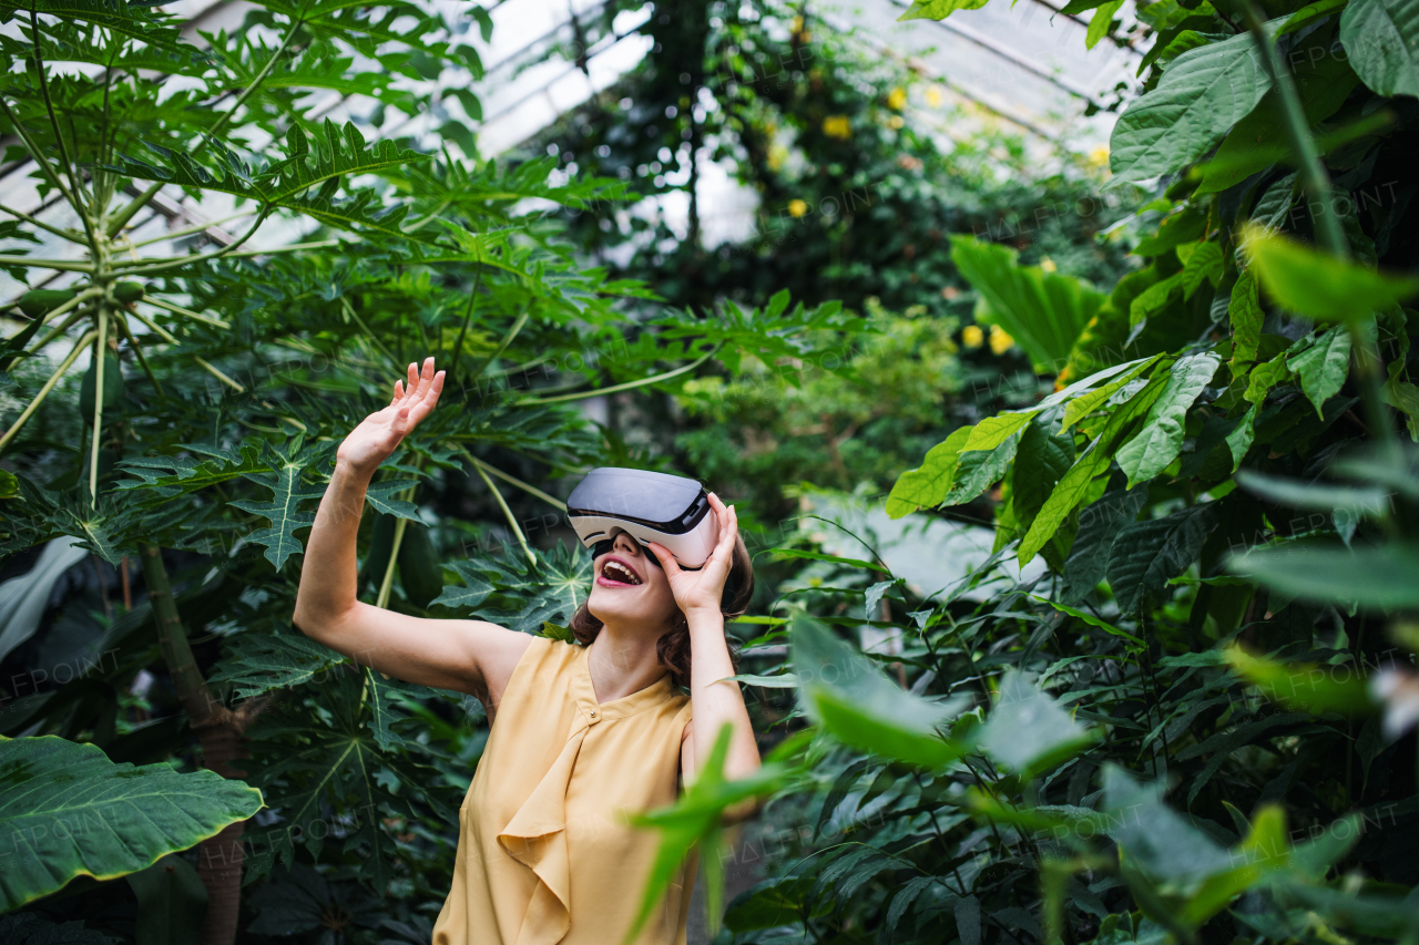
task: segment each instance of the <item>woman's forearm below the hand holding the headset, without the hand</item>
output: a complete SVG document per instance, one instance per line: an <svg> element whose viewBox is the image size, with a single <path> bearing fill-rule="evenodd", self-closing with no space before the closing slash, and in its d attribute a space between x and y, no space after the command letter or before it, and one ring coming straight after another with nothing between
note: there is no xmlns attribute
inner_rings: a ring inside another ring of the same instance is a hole
<svg viewBox="0 0 1419 945"><path fill-rule="evenodd" d="M691 735L694 736L695 770L704 765L719 738L725 722L734 726L729 753L724 762L724 776L744 778L759 768L759 746L753 741L753 725L744 694L735 681L721 681L734 675L729 644L724 637L724 614L692 612L690 621L690 701Z"/></svg>

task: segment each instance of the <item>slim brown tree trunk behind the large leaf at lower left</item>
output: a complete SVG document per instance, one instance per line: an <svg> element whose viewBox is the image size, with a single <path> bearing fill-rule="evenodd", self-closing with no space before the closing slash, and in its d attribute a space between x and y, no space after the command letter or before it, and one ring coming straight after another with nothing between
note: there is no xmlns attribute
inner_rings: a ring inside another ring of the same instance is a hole
<svg viewBox="0 0 1419 945"><path fill-rule="evenodd" d="M201 763L223 778L241 779L244 772L233 762L250 758L243 745L251 721L270 704L267 697L250 700L237 711L217 701L192 656L187 634L177 614L172 582L163 566L162 549L142 545L143 580L148 599L158 623L158 641L173 678L177 697L187 711L187 725L197 732L201 744ZM201 945L233 945L237 939L237 918L241 910L241 836L245 822L227 824L214 837L197 847L197 875L207 888L207 917L201 924Z"/></svg>

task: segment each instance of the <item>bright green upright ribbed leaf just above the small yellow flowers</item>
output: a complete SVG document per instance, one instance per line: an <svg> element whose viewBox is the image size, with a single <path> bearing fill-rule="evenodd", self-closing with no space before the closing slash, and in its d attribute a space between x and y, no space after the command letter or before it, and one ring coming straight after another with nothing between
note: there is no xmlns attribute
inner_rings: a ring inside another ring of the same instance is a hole
<svg viewBox="0 0 1419 945"><path fill-rule="evenodd" d="M951 237L951 260L989 306L976 319L1009 332L1037 372L1059 373L1104 295L1067 275L1016 265L1017 258L1009 247Z"/></svg>

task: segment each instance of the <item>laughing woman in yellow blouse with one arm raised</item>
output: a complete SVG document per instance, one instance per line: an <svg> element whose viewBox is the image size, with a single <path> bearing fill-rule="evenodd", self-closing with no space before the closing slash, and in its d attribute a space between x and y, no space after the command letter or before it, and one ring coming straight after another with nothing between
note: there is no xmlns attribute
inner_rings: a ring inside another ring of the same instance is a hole
<svg viewBox="0 0 1419 945"><path fill-rule="evenodd" d="M453 888L434 945L620 945L658 833L623 813L674 803L677 783L729 725L728 778L759 766L724 634L753 592L734 507L710 494L719 539L700 570L617 532L600 546L573 646L482 620L427 620L356 599L355 536L375 471L443 390L434 359L409 366L387 407L336 451L301 565L292 621L380 673L475 695L492 725L458 812ZM734 593L722 600L734 575ZM688 687L690 695L680 691ZM735 812L738 816L746 810ZM695 861L639 945L683 945Z"/></svg>

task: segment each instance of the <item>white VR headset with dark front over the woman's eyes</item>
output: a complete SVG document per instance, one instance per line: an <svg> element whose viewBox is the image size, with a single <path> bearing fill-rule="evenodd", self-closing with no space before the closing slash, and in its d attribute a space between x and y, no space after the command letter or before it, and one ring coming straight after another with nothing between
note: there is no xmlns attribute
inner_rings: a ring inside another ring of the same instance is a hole
<svg viewBox="0 0 1419 945"><path fill-rule="evenodd" d="M664 545L691 570L704 566L719 539L710 512L710 495L698 480L613 465L587 472L566 499L568 522L593 556L609 551L623 531L641 545ZM648 548L646 553L654 559Z"/></svg>

